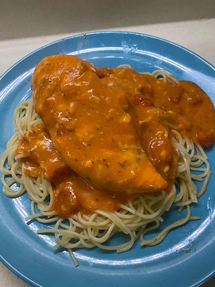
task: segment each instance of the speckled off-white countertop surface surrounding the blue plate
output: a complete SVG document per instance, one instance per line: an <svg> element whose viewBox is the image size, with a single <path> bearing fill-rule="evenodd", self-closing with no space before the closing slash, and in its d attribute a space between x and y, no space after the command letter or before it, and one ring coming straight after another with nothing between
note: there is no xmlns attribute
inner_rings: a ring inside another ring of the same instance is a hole
<svg viewBox="0 0 215 287"><path fill-rule="evenodd" d="M165 38L215 65L214 12L213 0L3 0L0 74L45 44L74 34L102 30L132 31ZM0 286L30 285L0 263ZM214 287L215 278L202 286Z"/></svg>

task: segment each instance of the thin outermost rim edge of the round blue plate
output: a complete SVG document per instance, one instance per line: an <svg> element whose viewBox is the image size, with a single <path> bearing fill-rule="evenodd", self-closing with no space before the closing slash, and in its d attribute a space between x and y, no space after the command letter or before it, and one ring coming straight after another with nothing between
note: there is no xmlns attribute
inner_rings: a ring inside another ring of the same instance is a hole
<svg viewBox="0 0 215 287"><path fill-rule="evenodd" d="M119 34L132 34L132 35L139 35L139 36L145 36L147 38L153 38L153 39L156 39L156 40L161 40L163 42L166 42L166 43L169 43L173 46L176 46L180 49L183 49L184 51L188 52L189 54L197 57L198 59L200 59L201 61L203 61L206 65L208 65L210 68L212 68L214 71L215 71L215 66L212 65L210 62L208 62L206 59L204 59L203 57L199 56L198 54L196 54L195 52L179 45L179 44L176 44L174 42L171 42L169 40L166 40L166 39L163 39L163 38L160 38L160 37L157 37L157 36L153 36L153 35L148 35L148 34L144 34L144 33L136 33L136 32L129 32L129 31L118 31L118 30L110 30L110 31L96 31L96 32L89 32L89 33L85 33L86 36L88 35L95 35L95 34L115 34L115 33L119 33ZM24 59L28 58L29 56L33 55L34 53L37 53L38 51L48 47L48 46L51 46L52 44L56 44L58 42L61 42L63 40L68 40L68 39L71 39L71 38L79 38L83 36L84 37L84 34L81 33L81 34L75 34L75 35L72 35L72 36L68 36L68 37L65 37L65 38L61 38L61 39L58 39L56 41L53 41L53 42L50 42L34 51L32 51L31 53L29 53L28 55L24 56L23 58L21 58L19 61L17 61L15 64L13 64L9 69L7 69L1 76L0 76L0 81L3 79L3 77L9 72L11 71L16 65L18 65L19 63L21 63ZM35 287L42 287L40 284L30 280L28 277L26 277L24 274L20 273L17 269L15 269L9 262L7 262L0 254L0 261L6 266L8 267L15 275L17 275L19 278L21 278L22 280L24 280L25 282L27 282L28 284L32 285L32 286L35 286ZM208 275L206 278L203 278L202 280L200 280L199 282L196 282L194 285L190 286L190 287L198 287L200 285L202 285L203 283L207 282L210 278L212 278L213 276L215 276L215 267L214 267L214 271L211 272L210 275Z"/></svg>

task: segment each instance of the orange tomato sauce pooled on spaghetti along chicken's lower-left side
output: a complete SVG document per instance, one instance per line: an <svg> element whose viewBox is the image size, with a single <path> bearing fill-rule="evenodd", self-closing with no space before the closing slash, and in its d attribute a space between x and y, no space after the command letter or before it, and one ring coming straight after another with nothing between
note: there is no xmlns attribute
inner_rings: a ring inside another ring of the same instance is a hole
<svg viewBox="0 0 215 287"><path fill-rule="evenodd" d="M52 139L43 124L29 129L19 140L16 155L23 154L21 162L27 176L41 177L52 182L54 192L53 210L61 217L75 213L84 214L96 209L114 212L137 193L127 194L97 189L64 164L60 152L54 148Z"/></svg>

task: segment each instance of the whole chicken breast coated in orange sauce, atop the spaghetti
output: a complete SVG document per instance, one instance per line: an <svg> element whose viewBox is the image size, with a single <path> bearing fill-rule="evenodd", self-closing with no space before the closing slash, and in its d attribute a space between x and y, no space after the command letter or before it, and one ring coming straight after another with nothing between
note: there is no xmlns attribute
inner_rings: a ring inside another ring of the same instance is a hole
<svg viewBox="0 0 215 287"><path fill-rule="evenodd" d="M35 110L63 161L99 188L146 192L167 187L146 157L124 90L102 82L70 55L44 58L32 78Z"/></svg>

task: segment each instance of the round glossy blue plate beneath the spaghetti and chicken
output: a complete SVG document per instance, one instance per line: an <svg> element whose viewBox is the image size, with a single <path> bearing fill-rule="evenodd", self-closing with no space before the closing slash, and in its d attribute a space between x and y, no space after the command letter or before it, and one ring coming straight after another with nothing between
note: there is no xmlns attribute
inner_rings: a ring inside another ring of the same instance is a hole
<svg viewBox="0 0 215 287"><path fill-rule="evenodd" d="M0 153L14 131L15 107L31 96L35 66L43 57L54 54L77 55L95 66L128 63L137 71L165 69L179 80L196 82L215 103L215 68L181 46L130 32L72 36L31 53L0 78ZM207 154L212 177L199 203L191 206L192 215L201 216L201 220L172 230L154 247L140 247L137 240L130 251L121 254L99 248L76 250L77 268L65 250L53 250L53 236L36 234L38 228L45 226L38 222L26 224L24 218L30 214L26 194L10 199L0 192L1 261L33 286L199 286L215 273L215 148L208 149ZM185 216L185 211L178 214L172 208L163 215L162 226L180 216Z"/></svg>

